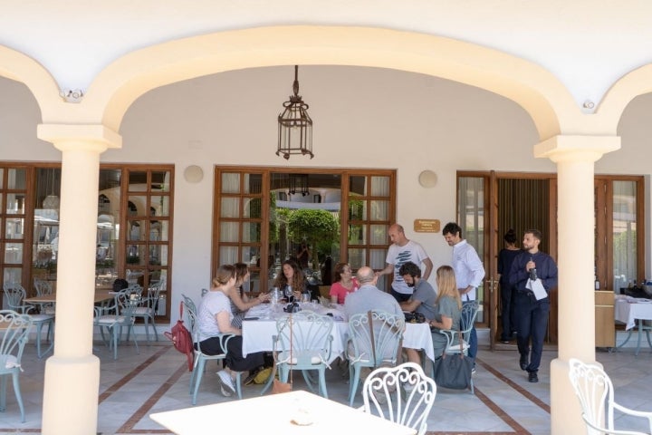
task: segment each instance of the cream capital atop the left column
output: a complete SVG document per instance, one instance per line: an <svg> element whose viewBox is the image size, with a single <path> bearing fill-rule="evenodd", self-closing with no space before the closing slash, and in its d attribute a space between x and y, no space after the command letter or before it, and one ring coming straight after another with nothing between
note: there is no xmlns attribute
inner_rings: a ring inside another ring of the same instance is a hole
<svg viewBox="0 0 652 435"><path fill-rule="evenodd" d="M122 137L101 124L39 124L36 136L52 142L57 150L104 152L122 148Z"/></svg>

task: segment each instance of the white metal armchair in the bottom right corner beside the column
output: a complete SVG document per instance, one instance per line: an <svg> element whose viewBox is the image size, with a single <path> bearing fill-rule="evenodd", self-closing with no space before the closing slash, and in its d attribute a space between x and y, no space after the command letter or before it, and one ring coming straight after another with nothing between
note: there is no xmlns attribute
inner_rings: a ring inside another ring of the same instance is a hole
<svg viewBox="0 0 652 435"><path fill-rule="evenodd" d="M652 433L652 412L636 411L619 405L614 400L614 388L609 375L598 365L587 364L575 358L570 358L569 365L570 383L580 399L582 419L586 423L587 435ZM647 432L616 430L614 411L647 419Z"/></svg>

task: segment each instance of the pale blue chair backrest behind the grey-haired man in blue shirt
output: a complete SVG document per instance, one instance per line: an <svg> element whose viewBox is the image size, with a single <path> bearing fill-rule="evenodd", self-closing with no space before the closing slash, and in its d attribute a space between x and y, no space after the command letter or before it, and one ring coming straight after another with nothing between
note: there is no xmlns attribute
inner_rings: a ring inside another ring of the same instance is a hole
<svg viewBox="0 0 652 435"><path fill-rule="evenodd" d="M379 367L383 362L397 362L398 344L403 337L405 317L372 311L373 340L369 328L369 314L353 314L349 318L349 338L352 343L351 361L368 361L369 367ZM375 360L374 360L375 355Z"/></svg>

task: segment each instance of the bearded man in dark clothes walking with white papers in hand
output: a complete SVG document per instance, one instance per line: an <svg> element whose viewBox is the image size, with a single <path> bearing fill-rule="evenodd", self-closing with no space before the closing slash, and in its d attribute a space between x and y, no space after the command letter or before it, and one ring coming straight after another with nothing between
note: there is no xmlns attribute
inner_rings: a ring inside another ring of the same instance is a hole
<svg viewBox="0 0 652 435"><path fill-rule="evenodd" d="M510 283L516 287L514 320L516 321L516 344L521 359L521 370L528 372L528 381L539 382L539 365L543 351L543 339L548 328L550 291L557 286L557 265L548 254L539 251L542 234L528 229L523 235L523 251L514 258L510 269ZM546 295L537 300L532 292L532 281L541 281ZM532 337L532 354L530 354Z"/></svg>

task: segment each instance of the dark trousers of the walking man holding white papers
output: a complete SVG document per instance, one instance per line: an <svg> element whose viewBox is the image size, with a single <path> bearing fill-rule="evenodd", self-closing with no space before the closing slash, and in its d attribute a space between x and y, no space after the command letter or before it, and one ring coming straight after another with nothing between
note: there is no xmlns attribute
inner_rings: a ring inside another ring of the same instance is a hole
<svg viewBox="0 0 652 435"><path fill-rule="evenodd" d="M541 364L543 340L548 329L548 314L550 313L550 299L537 301L534 295L516 294L514 317L516 321L516 344L519 353L529 356L528 372L537 372ZM532 353L530 341L532 339Z"/></svg>

